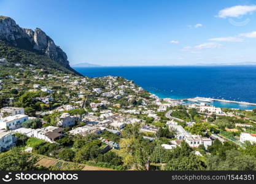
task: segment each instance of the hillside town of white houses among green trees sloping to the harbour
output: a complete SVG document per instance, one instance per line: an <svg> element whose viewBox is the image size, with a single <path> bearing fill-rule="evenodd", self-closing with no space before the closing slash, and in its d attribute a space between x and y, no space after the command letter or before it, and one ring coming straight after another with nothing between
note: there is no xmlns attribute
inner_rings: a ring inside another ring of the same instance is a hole
<svg viewBox="0 0 256 184"><path fill-rule="evenodd" d="M196 162L187 169L204 170L218 169L208 162L221 147L227 151L223 159L230 150L250 149L247 156L255 161L256 110L220 109L206 98L160 99L122 77L89 78L0 62L0 156L19 147L48 159L117 170L182 170L173 162L184 156L172 154L183 150Z"/></svg>

